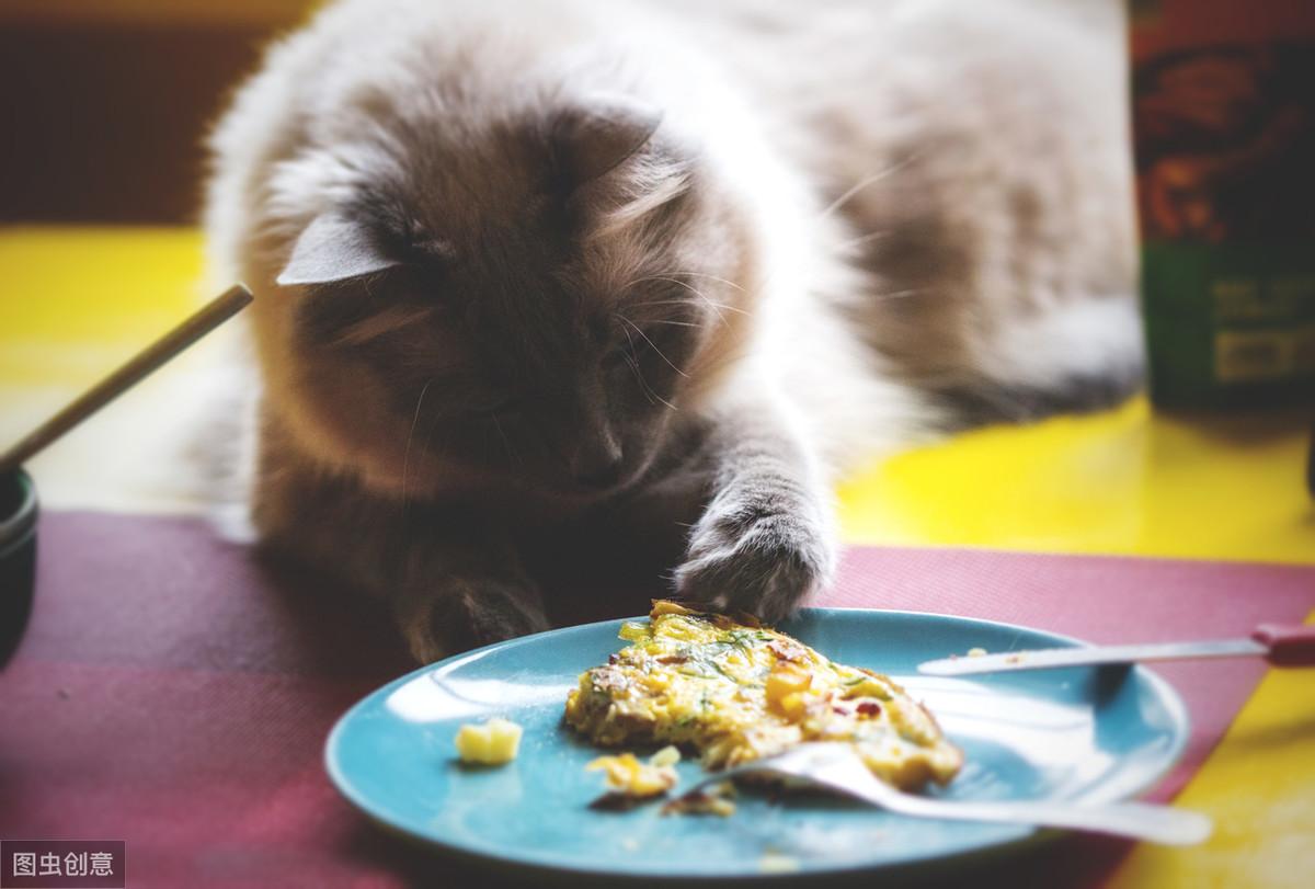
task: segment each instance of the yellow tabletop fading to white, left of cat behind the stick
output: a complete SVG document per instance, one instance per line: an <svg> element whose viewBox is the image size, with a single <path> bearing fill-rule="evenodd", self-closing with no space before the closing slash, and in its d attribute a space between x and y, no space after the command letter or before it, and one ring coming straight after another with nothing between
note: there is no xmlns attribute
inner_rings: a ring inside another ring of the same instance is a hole
<svg viewBox="0 0 1315 889"><path fill-rule="evenodd" d="M191 229L0 228L0 442L8 446L200 305ZM49 506L179 509L203 342L28 464ZM168 410L160 410L168 405Z"/></svg>

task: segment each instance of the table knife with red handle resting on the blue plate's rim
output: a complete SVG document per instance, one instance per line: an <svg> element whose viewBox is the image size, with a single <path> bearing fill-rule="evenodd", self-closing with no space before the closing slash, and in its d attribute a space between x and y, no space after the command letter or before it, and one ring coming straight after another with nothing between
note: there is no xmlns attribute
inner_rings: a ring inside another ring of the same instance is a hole
<svg viewBox="0 0 1315 889"><path fill-rule="evenodd" d="M1249 639L1164 642L1134 646L1081 646L1034 648L994 655L969 655L928 660L918 672L928 676L970 676L1013 669L1051 669L1093 664L1126 664L1141 660L1190 660L1195 658L1264 658L1274 667L1315 667L1315 625L1262 623Z"/></svg>

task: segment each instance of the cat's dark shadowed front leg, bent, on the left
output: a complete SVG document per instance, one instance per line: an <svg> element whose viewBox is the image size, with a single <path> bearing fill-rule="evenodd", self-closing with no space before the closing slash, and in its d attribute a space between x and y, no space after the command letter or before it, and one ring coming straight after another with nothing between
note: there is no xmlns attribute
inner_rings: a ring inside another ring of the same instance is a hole
<svg viewBox="0 0 1315 889"><path fill-rule="evenodd" d="M538 587L488 522L287 464L263 475L254 512L262 539L387 602L417 660L548 627Z"/></svg>

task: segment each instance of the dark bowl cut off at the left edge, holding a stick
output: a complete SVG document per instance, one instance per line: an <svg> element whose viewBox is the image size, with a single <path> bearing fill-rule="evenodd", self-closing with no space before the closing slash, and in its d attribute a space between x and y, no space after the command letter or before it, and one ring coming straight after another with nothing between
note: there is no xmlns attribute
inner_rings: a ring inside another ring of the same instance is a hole
<svg viewBox="0 0 1315 889"><path fill-rule="evenodd" d="M0 475L0 667L18 647L37 579L37 488L22 469Z"/></svg>

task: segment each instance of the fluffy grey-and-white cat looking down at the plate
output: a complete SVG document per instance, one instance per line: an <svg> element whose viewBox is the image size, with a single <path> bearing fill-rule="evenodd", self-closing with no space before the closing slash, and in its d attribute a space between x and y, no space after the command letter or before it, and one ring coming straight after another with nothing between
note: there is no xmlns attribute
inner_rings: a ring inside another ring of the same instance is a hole
<svg viewBox="0 0 1315 889"><path fill-rule="evenodd" d="M843 472L1134 392L1120 20L1064 5L330 4L212 135L256 533L421 661L590 550L776 621Z"/></svg>

